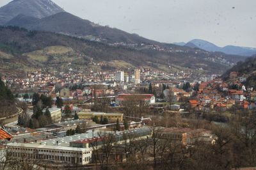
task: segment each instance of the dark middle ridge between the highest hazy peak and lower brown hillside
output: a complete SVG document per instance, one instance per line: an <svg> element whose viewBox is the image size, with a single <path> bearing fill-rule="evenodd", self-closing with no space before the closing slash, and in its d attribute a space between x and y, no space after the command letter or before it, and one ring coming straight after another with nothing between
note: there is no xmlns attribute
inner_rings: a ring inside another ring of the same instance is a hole
<svg viewBox="0 0 256 170"><path fill-rule="evenodd" d="M51 31L53 33L62 33L64 35L77 36L89 40L100 40L107 43L125 42L161 44L154 40L148 40L147 38L130 34L120 29L99 26L90 22L90 20L81 19L68 12L56 13L36 21L31 20L28 24L19 23L20 19L13 19L12 22L7 22L6 26L19 26L37 31Z"/></svg>

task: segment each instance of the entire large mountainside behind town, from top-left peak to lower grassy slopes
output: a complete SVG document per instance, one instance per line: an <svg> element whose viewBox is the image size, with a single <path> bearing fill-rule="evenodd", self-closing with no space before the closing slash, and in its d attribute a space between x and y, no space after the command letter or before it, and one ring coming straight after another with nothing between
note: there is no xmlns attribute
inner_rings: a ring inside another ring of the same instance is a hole
<svg viewBox="0 0 256 170"><path fill-rule="evenodd" d="M0 16L1 72L41 66L65 68L67 63L74 63L79 70L88 68L93 58L95 62L106 63L99 69L125 65L166 72L172 68L223 73L244 60L241 56L207 52L193 43L190 47L160 43L99 26L63 11L50 0L14 0L0 8Z"/></svg>

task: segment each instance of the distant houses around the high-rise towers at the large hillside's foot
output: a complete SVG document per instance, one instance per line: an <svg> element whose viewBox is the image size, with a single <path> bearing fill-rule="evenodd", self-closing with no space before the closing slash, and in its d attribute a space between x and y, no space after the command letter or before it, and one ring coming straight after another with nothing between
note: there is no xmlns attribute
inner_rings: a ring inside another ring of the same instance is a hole
<svg viewBox="0 0 256 170"><path fill-rule="evenodd" d="M71 66L71 65L70 65ZM171 67L171 66L170 66ZM116 72L117 71L117 72ZM1 79L13 91L19 93L28 93L29 91L48 93L51 95L52 84L58 84L61 87L70 87L74 84L112 84L112 86L123 86L124 89L127 85L140 84L141 82L157 79L187 79L192 76L192 71L186 72L180 70L175 73L166 73L160 70L154 70L141 66L138 69L108 70L108 71L95 71L85 70L84 72L68 69L67 72L56 72L44 69L39 69L34 72L29 72L25 77L1 77ZM124 86L124 84L126 86Z"/></svg>

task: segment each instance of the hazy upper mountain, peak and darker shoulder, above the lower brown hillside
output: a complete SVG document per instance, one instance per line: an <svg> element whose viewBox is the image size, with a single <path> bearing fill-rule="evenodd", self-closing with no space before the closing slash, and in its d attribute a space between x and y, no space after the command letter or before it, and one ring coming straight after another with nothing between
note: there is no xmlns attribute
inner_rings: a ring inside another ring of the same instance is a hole
<svg viewBox="0 0 256 170"><path fill-rule="evenodd" d="M65 12L50 0L15 0L0 8L0 25L51 31L106 43L154 43L120 29L99 26Z"/></svg>

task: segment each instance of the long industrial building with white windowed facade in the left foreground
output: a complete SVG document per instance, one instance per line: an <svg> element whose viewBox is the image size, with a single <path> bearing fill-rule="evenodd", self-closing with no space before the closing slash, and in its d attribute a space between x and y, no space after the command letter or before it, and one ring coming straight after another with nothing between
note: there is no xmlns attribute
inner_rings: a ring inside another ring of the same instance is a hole
<svg viewBox="0 0 256 170"><path fill-rule="evenodd" d="M8 143L7 153L12 157L44 160L66 164L89 164L92 162L92 145L102 145L104 139L113 137L113 143L122 143L129 139L150 137L152 130L148 127L134 128L122 132L88 130L84 134L76 134L55 139L47 139L40 143ZM95 143L96 142L96 143Z"/></svg>

